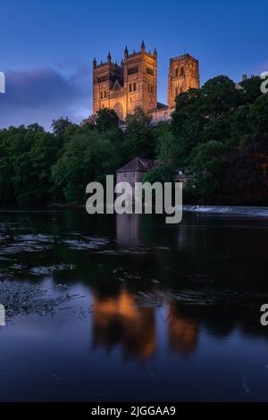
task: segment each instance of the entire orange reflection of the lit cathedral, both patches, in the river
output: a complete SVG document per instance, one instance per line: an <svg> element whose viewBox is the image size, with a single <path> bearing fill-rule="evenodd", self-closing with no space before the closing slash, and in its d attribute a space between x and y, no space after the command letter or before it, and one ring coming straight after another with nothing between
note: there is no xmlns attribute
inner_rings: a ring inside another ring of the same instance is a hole
<svg viewBox="0 0 268 420"><path fill-rule="evenodd" d="M121 344L126 357L147 360L157 350L155 307L137 307L135 297L122 288L116 296L93 294L93 343L105 349ZM166 339L170 349L187 355L197 347L198 325L167 304Z"/></svg>

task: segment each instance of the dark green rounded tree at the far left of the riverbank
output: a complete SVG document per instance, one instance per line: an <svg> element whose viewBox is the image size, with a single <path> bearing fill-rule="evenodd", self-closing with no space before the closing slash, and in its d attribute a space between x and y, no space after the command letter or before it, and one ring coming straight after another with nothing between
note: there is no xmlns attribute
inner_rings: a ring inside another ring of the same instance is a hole
<svg viewBox="0 0 268 420"><path fill-rule="evenodd" d="M0 199L4 205L42 205L49 200L50 168L60 142L38 124L0 132Z"/></svg>

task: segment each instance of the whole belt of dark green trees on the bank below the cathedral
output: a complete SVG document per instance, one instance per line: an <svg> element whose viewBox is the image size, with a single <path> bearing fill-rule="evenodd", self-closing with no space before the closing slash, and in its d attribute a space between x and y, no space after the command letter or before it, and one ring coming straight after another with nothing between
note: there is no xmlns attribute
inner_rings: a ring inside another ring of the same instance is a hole
<svg viewBox="0 0 268 420"><path fill-rule="evenodd" d="M90 181L105 181L132 158L157 158L147 181L188 177L184 201L192 204L268 205L268 95L257 77L240 85L225 76L177 98L172 123L153 127L140 109L126 129L100 111L96 124L68 118L46 132L38 124L0 130L2 206L84 203Z"/></svg>

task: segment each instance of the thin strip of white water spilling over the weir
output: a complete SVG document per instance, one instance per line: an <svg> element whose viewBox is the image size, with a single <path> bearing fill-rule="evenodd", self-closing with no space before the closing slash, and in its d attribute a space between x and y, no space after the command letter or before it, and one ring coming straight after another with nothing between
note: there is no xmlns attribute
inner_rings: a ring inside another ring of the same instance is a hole
<svg viewBox="0 0 268 420"><path fill-rule="evenodd" d="M268 207L254 206L183 206L183 211L192 213L238 214L268 217Z"/></svg>

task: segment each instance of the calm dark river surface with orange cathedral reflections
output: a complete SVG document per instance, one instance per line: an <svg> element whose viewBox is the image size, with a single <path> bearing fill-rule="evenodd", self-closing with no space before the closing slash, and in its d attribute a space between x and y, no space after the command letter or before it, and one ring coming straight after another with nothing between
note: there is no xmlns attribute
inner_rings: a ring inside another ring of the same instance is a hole
<svg viewBox="0 0 268 420"><path fill-rule="evenodd" d="M2 401L268 401L268 222L0 213Z"/></svg>

